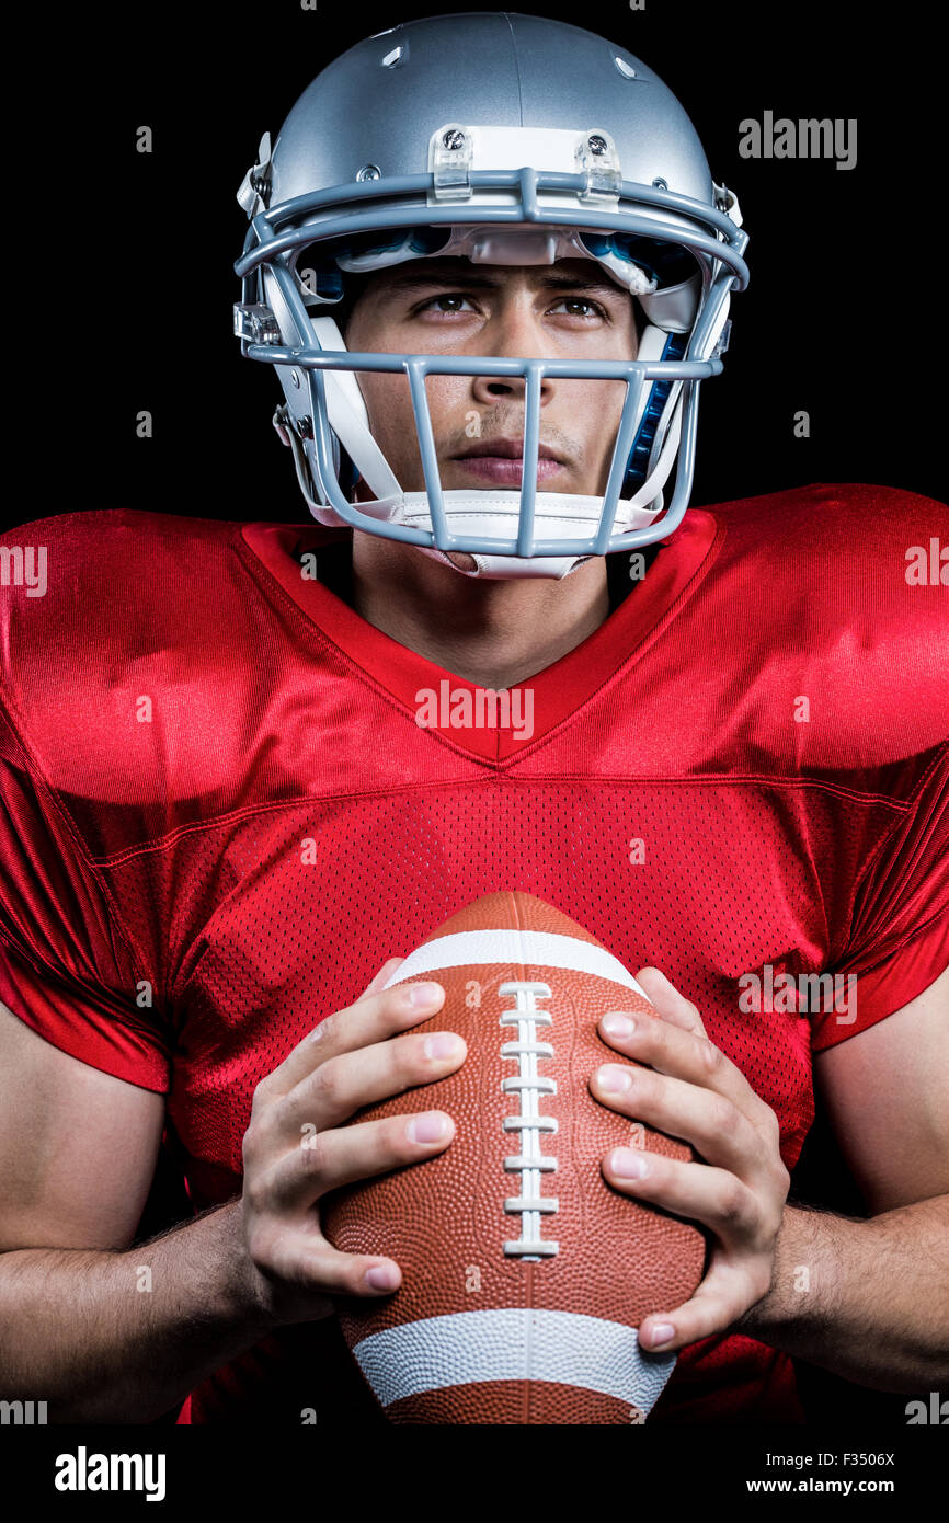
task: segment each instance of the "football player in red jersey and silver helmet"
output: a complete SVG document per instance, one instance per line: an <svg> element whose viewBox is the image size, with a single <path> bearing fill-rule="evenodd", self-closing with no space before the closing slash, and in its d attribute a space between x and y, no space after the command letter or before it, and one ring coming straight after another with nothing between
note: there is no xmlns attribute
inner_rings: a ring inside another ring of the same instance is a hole
<svg viewBox="0 0 949 1523"><path fill-rule="evenodd" d="M929 1389L949 678L938 571L896 539L938 542L946 509L859 484L689 507L748 238L679 102L600 37L486 12L369 38L239 200L236 332L314 522L5 539L47 567L2 644L11 1394L55 1421L381 1421L329 1298L401 1270L337 1252L320 1199L451 1147L439 1110L346 1122L466 1060L449 1020L413 1031L437 984L385 985L503 886L661 1016L605 1019L590 1075L698 1153L603 1159L710 1243L638 1330L678 1355L650 1422L801 1421L792 1355ZM788 1202L815 1094L865 1218ZM161 1145L195 1220L133 1250Z"/></svg>

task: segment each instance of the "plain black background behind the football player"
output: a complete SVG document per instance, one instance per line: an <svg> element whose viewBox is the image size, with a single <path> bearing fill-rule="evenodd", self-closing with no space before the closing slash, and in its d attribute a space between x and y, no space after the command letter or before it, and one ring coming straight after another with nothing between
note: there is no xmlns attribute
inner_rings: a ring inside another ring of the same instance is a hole
<svg viewBox="0 0 949 1523"><path fill-rule="evenodd" d="M302 521L289 455L270 426L276 378L241 359L232 335L247 227L235 193L260 134L276 137L332 56L446 9L175 0L50 17L59 110L38 172L21 177L8 161L24 212L11 225L46 297L26 314L15 295L8 306L12 332L23 321L46 355L15 410L41 446L8 493L11 525L117 507ZM521 9L643 58L690 113L716 180L739 195L751 285L733 299L725 373L702 387L693 503L810 481L943 496L938 14L922 0L879 11L853 0ZM740 158L739 123L766 110L856 117L856 168ZM154 131L151 155L136 152L142 125ZM152 440L136 439L140 408L154 414ZM809 439L794 437L798 410L810 414ZM820 1122L792 1194L861 1214ZM160 1168L140 1238L187 1214ZM801 1384L821 1424L905 1424L906 1397L809 1368Z"/></svg>

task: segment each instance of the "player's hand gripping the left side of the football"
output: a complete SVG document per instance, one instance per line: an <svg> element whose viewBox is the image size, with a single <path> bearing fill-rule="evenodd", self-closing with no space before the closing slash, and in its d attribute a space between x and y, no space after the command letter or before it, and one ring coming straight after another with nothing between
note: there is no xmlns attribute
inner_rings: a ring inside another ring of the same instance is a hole
<svg viewBox="0 0 949 1523"><path fill-rule="evenodd" d="M393 1260L341 1253L328 1241L320 1197L434 1157L454 1138L443 1110L344 1125L363 1106L445 1078L468 1055L454 1033L408 1033L436 1014L445 990L385 990L401 961L390 958L353 1005L321 1020L254 1090L244 1133L245 1269L254 1301L277 1323L329 1316L329 1296L398 1290L402 1273ZM428 1001L414 1004L423 990Z"/></svg>

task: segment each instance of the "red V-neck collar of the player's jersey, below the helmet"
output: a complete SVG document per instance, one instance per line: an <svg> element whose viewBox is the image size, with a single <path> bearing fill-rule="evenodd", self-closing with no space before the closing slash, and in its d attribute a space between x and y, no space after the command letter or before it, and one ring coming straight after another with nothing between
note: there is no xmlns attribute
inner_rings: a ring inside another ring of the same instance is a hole
<svg viewBox="0 0 949 1523"><path fill-rule="evenodd" d="M321 582L305 579L294 557L300 550L318 557L320 544L326 544L324 539L311 544L306 525L242 524L241 538L250 551L242 557L248 568L256 576L259 568L268 571L356 673L384 687L407 710L413 723L425 704L428 713L437 714L433 737L466 755L498 765L522 757L554 730L579 717L585 704L611 678L643 658L711 568L724 528L711 513L690 509L681 527L660 541L658 554L643 582L620 606L582 644L516 684L521 690L518 699L515 688L510 690L512 710L519 702L521 720L530 705L530 734L522 722L510 728L452 723L452 710L455 714L465 713L466 707L469 713L475 711L475 694L484 690L369 624Z"/></svg>

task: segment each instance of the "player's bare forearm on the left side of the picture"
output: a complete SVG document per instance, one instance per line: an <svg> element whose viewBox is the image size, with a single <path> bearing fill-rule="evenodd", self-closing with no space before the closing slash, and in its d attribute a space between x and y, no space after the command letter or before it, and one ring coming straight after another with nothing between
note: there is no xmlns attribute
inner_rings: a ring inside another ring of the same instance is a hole
<svg viewBox="0 0 949 1523"><path fill-rule="evenodd" d="M273 1330L242 1261L239 1202L122 1253L2 1253L0 1398L149 1422Z"/></svg>

